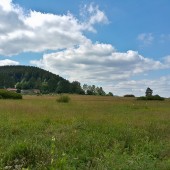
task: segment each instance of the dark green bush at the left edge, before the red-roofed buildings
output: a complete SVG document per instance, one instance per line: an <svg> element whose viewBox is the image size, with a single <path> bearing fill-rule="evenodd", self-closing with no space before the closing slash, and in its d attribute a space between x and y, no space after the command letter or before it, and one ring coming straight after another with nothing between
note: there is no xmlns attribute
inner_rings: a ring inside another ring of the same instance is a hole
<svg viewBox="0 0 170 170"><path fill-rule="evenodd" d="M15 92L11 92L11 91L7 91L5 89L1 89L0 90L0 98L1 99L22 99L22 95L15 93Z"/></svg>

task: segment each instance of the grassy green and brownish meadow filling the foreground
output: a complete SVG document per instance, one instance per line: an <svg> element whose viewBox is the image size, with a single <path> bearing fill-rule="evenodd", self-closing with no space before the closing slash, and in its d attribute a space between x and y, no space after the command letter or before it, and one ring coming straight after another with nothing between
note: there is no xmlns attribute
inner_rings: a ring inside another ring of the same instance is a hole
<svg viewBox="0 0 170 170"><path fill-rule="evenodd" d="M0 169L170 169L170 100L70 98L0 100Z"/></svg>

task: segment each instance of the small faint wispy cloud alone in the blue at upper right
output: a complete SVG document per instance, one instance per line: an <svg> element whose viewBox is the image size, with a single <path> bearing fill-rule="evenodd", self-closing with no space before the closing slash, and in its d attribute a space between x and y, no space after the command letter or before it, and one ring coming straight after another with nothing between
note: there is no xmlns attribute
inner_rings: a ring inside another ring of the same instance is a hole
<svg viewBox="0 0 170 170"><path fill-rule="evenodd" d="M142 42L143 45L148 46L152 44L154 37L152 33L142 33L138 35L137 39Z"/></svg>

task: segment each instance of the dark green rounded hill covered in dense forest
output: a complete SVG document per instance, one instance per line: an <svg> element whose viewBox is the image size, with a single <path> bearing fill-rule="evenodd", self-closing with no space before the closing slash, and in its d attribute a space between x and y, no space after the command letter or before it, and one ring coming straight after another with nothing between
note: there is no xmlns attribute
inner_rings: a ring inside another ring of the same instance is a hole
<svg viewBox="0 0 170 170"><path fill-rule="evenodd" d="M39 89L42 93L83 93L80 83L33 66L0 66L0 88Z"/></svg>

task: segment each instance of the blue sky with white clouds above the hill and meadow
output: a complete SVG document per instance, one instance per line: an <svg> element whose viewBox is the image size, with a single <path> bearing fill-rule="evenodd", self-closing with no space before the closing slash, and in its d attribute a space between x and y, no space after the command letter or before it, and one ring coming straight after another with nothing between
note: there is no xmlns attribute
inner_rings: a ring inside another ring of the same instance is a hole
<svg viewBox="0 0 170 170"><path fill-rule="evenodd" d="M0 66L123 96L170 97L169 0L0 0Z"/></svg>

